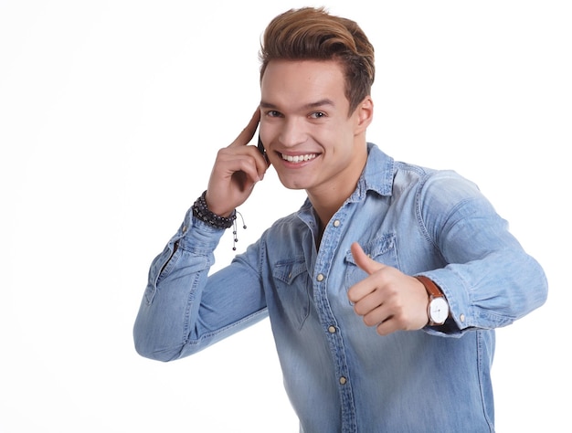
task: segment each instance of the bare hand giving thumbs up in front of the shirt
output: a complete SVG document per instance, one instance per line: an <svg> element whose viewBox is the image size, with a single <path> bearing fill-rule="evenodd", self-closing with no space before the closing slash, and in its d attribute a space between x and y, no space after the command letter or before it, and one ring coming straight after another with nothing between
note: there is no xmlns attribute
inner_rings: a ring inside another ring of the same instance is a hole
<svg viewBox="0 0 572 433"><path fill-rule="evenodd" d="M400 270L367 256L357 242L352 244L355 263L368 276L348 290L354 311L377 333L421 329L429 322L429 294L423 284Z"/></svg>

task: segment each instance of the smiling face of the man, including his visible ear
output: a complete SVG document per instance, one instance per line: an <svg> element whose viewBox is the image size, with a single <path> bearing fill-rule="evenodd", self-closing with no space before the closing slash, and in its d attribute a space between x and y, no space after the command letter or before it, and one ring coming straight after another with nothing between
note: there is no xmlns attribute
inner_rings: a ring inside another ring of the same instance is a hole
<svg viewBox="0 0 572 433"><path fill-rule="evenodd" d="M367 152L360 112L348 115L337 62L270 61L261 80L260 138L281 183L311 195L353 190Z"/></svg>

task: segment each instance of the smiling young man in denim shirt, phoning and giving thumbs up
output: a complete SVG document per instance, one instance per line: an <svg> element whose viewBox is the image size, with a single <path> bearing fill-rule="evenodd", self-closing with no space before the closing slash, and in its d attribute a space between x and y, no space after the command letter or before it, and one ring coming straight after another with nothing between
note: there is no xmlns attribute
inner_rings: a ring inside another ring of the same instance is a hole
<svg viewBox="0 0 572 433"><path fill-rule="evenodd" d="M366 142L374 49L354 22L286 12L261 60L259 110L151 266L137 351L174 360L270 316L301 431L493 431L493 329L546 300L543 270L471 182ZM307 201L207 276L270 165Z"/></svg>

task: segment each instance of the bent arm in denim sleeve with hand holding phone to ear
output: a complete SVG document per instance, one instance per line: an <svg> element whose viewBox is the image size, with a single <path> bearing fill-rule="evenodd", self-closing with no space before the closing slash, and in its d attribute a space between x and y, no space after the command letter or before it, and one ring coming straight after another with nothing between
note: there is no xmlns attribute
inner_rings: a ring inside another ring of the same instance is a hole
<svg viewBox="0 0 572 433"><path fill-rule="evenodd" d="M229 216L244 203L268 168L258 149L246 145L259 119L256 111L237 140L217 153L207 206L219 216ZM258 269L247 261L235 261L207 277L223 231L189 210L154 259L133 329L139 354L163 361L193 354L263 317Z"/></svg>

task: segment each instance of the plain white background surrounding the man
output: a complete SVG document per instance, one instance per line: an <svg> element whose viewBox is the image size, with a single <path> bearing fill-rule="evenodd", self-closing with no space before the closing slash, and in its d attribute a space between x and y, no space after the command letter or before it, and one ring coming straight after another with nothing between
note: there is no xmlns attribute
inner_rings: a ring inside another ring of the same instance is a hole
<svg viewBox="0 0 572 433"><path fill-rule="evenodd" d="M546 305L497 333L497 428L570 431L567 4L0 0L0 431L297 431L269 322L170 364L135 354L132 322L258 104L261 32L300 5L374 43L368 139L471 178L544 265ZM267 175L238 249L302 198Z"/></svg>

